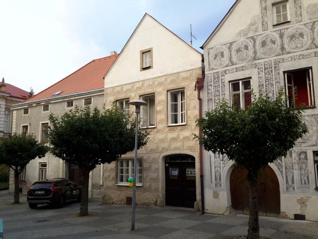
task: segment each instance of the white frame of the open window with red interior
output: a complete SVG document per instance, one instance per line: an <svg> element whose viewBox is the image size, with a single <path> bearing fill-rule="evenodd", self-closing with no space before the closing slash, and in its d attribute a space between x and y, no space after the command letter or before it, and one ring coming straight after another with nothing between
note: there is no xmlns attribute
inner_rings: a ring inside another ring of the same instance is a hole
<svg viewBox="0 0 318 239"><path fill-rule="evenodd" d="M289 71L289 72L285 72L284 74L284 78L285 78L285 94L286 96L289 95L288 92L288 86L291 86L292 89L294 88L294 76L290 73L293 72L297 72L297 71L301 71L301 70L306 70L306 69L296 69L293 71ZM292 84L288 84L287 82L287 76L290 76L292 79ZM308 106L307 107L311 107L311 106L315 106L315 95L314 95L314 84L313 84L313 69L312 68L308 68L307 72L306 72L306 80L307 80L307 94L308 94ZM309 91L309 85L310 87L310 91ZM310 93L311 93L311 97L310 97ZM294 98L294 92L293 92L293 98ZM311 103L311 104L310 104ZM287 106L289 107L289 101L287 101Z"/></svg>

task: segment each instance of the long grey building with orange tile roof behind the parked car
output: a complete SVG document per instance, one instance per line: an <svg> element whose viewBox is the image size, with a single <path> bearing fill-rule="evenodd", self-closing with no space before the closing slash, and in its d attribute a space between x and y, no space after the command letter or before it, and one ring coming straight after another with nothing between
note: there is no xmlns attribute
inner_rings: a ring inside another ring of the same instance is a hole
<svg viewBox="0 0 318 239"><path fill-rule="evenodd" d="M91 105L100 110L104 105L104 76L116 60L118 54L111 52L110 56L95 59L72 74L61 79L45 90L24 98L23 102L11 107L13 111L12 132L33 134L39 142L47 143L49 114L63 115L76 105ZM18 92L17 92L18 93ZM22 172L20 187L22 192L37 180L65 177L81 184L81 170L72 163L65 163L59 158L47 153L41 159L32 160ZM90 195L103 195L100 185L103 184L100 165L91 173ZM13 192L13 174L10 173L10 192Z"/></svg>

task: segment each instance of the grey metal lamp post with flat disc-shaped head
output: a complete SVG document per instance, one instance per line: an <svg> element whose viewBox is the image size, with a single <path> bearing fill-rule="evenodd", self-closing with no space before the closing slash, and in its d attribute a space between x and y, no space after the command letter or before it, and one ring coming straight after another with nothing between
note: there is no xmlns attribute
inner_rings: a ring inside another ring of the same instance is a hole
<svg viewBox="0 0 318 239"><path fill-rule="evenodd" d="M143 100L132 100L128 102L129 105L135 105L136 107L136 136L135 136L135 159L134 159L134 187L133 187L133 201L131 212L131 226L130 230L135 230L135 208L136 208L136 182L137 182L137 149L138 149L138 115L140 113L140 106L147 105Z"/></svg>

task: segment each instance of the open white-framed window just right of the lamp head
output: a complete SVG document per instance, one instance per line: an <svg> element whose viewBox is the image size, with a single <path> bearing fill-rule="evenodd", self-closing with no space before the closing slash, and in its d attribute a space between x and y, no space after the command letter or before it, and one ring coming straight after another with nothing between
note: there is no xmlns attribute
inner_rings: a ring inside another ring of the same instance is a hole
<svg viewBox="0 0 318 239"><path fill-rule="evenodd" d="M154 127L155 119L155 94L140 97L147 105L141 106L141 123L143 127Z"/></svg>

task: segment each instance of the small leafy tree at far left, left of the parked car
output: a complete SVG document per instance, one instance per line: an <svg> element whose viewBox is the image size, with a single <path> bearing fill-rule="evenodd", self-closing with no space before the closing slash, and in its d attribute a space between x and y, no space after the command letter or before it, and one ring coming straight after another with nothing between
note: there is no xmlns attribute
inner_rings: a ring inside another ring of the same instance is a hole
<svg viewBox="0 0 318 239"><path fill-rule="evenodd" d="M19 203L19 176L24 167L36 157L45 156L49 147L38 143L32 134L13 134L0 140L0 164L14 170L14 202Z"/></svg>

